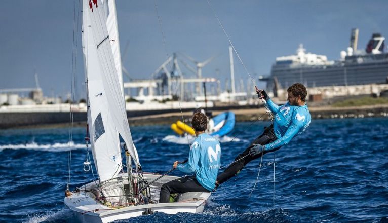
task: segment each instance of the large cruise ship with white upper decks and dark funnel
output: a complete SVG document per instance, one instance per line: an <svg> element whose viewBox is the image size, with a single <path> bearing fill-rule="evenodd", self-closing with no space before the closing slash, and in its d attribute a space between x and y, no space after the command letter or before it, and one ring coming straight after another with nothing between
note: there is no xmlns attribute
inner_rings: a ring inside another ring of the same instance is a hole
<svg viewBox="0 0 388 223"><path fill-rule="evenodd" d="M373 33L366 49L357 50L358 29L352 30L350 47L341 51L339 60L306 53L299 45L296 55L276 58L271 68L274 82L268 87L287 88L299 82L307 87L348 86L388 83L388 53L385 38Z"/></svg>

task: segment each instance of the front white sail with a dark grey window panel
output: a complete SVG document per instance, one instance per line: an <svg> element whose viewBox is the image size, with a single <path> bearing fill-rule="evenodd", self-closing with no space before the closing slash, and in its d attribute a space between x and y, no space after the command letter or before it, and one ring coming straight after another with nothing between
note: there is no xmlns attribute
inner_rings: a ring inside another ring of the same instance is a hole
<svg viewBox="0 0 388 223"><path fill-rule="evenodd" d="M83 1L83 50L88 91L88 122L93 159L100 180L122 169L119 134L139 165L128 125L122 85L113 59L106 14L98 0Z"/></svg>

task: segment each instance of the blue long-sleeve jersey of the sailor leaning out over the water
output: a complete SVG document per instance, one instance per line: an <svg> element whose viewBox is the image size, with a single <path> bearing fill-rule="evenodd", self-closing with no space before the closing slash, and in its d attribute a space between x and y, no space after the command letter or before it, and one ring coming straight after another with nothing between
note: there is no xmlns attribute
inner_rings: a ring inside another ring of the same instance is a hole
<svg viewBox="0 0 388 223"><path fill-rule="evenodd" d="M282 106L276 105L271 99L267 101L268 108L274 113L274 132L277 140L266 144L265 150L272 150L290 142L300 135L311 122L311 115L307 104L293 106L289 102Z"/></svg>

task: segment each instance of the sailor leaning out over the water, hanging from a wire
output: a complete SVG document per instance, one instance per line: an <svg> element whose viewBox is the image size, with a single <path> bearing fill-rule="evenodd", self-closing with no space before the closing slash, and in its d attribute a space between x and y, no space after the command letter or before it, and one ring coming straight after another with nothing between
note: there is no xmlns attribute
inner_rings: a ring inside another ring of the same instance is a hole
<svg viewBox="0 0 388 223"><path fill-rule="evenodd" d="M282 145L286 145L302 134L311 122L305 98L306 88L296 83L288 89L288 102L282 106L276 105L264 90L256 89L259 98L264 98L269 110L275 115L273 125L264 128L262 135L253 140L246 150L236 157L224 172L217 177L216 187L219 184L238 174L250 161L260 158L268 152L279 150Z"/></svg>

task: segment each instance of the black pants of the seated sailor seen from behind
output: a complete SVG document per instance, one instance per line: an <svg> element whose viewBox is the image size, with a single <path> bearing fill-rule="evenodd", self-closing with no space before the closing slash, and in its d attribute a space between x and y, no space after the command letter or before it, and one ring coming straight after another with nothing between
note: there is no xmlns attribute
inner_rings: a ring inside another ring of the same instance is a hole
<svg viewBox="0 0 388 223"><path fill-rule="evenodd" d="M170 194L185 192L210 192L197 181L196 176L184 176L162 185L159 203L170 202Z"/></svg>

